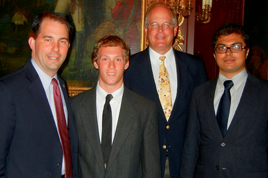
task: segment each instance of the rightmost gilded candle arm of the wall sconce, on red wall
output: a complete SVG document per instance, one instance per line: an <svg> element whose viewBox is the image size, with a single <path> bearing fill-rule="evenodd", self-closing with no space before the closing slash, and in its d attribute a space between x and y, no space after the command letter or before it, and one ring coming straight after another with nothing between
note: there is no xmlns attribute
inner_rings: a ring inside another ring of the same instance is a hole
<svg viewBox="0 0 268 178"><path fill-rule="evenodd" d="M212 17L212 0L202 1L202 13L195 13L195 19L199 23L209 23Z"/></svg>

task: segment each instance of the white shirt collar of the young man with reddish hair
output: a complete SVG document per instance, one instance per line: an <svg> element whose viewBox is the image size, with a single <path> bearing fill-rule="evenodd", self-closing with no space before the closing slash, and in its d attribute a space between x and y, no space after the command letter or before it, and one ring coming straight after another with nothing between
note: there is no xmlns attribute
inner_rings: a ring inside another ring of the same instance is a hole
<svg viewBox="0 0 268 178"><path fill-rule="evenodd" d="M113 99L115 99L115 101L117 103L120 103L123 97L123 92L124 92L124 83L122 84L122 86L116 90L113 93L107 93L105 90L103 90L100 86L99 86L99 81L97 82L97 86L96 86L96 94L97 97L100 101L100 103L105 102L106 96L108 94L112 94L113 95Z"/></svg>

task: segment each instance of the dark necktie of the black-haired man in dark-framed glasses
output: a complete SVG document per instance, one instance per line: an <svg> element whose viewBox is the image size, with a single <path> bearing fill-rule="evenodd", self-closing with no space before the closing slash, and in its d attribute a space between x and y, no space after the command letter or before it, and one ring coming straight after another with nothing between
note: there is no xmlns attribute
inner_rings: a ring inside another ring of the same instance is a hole
<svg viewBox="0 0 268 178"><path fill-rule="evenodd" d="M227 132L227 124L228 124L228 117L230 112L230 105L231 105L231 94L230 89L233 86L232 80L226 80L224 83L224 93L220 100L218 110L217 110L217 121L224 137Z"/></svg>

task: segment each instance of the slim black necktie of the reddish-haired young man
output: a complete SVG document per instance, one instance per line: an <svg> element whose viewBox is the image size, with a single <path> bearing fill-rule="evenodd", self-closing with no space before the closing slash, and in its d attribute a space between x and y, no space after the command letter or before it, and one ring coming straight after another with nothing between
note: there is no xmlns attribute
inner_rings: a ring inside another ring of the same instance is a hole
<svg viewBox="0 0 268 178"><path fill-rule="evenodd" d="M112 148L112 109L110 105L113 95L108 94L102 113L102 135L101 135L101 151L104 160L104 167L106 169L108 159Z"/></svg>

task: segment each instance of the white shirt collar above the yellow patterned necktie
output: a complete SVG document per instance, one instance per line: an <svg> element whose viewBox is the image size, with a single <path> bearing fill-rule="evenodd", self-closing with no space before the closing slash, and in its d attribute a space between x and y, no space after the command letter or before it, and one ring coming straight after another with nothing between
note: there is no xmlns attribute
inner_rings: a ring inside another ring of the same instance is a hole
<svg viewBox="0 0 268 178"><path fill-rule="evenodd" d="M174 52L173 52L173 48L171 47L170 50L164 54L164 55L160 55L159 53L155 52L150 46L149 46L149 54L150 54L150 59L153 62L153 64L157 64L160 63L160 57L161 56L165 56L165 62L169 62L170 64L172 64L172 58L174 56Z"/></svg>

